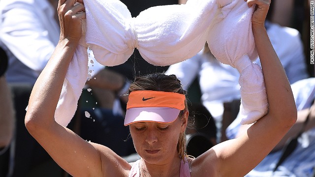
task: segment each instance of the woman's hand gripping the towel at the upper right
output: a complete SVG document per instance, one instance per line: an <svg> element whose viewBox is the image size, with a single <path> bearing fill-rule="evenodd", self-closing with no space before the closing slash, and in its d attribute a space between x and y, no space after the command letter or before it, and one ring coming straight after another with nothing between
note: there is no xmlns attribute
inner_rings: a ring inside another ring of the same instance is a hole
<svg viewBox="0 0 315 177"><path fill-rule="evenodd" d="M254 13L252 14L252 25L264 26L271 0L245 0L245 1L247 1L247 5L249 7L252 7L252 5L256 4L256 9Z"/></svg>

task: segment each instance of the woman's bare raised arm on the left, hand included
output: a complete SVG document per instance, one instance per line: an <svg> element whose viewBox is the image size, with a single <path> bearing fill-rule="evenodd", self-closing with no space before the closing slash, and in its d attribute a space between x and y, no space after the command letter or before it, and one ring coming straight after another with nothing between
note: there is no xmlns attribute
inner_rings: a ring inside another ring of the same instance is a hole
<svg viewBox="0 0 315 177"><path fill-rule="evenodd" d="M75 2L59 0L60 40L32 89L25 124L65 171L75 177L98 177L102 168L95 147L54 119L67 68L82 35L82 20L86 18L84 5L74 5Z"/></svg>

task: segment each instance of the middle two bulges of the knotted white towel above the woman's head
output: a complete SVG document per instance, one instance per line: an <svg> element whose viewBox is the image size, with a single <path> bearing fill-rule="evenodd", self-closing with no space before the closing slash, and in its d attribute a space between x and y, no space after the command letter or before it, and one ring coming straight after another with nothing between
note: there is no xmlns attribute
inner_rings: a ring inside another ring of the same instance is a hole
<svg viewBox="0 0 315 177"><path fill-rule="evenodd" d="M137 48L149 63L174 64L193 57L206 41L216 0L148 8L131 18L119 0L89 0L86 40L103 65L124 63ZM163 13L160 13L163 12Z"/></svg>

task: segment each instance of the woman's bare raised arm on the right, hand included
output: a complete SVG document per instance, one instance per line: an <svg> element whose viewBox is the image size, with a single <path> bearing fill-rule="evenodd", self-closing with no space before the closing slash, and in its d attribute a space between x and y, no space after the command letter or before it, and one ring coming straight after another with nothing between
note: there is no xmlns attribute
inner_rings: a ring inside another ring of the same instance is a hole
<svg viewBox="0 0 315 177"><path fill-rule="evenodd" d="M216 176L246 175L279 143L297 118L292 90L264 27L270 0L245 1L249 6L256 5L252 30L263 70L269 112L239 138L223 142L209 151L215 156L208 158L218 162L215 163Z"/></svg>

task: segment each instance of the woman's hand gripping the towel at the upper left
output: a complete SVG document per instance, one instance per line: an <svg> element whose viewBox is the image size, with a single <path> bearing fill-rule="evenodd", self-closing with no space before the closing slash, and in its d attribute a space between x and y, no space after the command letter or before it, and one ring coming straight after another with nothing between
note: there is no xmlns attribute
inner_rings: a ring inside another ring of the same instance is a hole
<svg viewBox="0 0 315 177"><path fill-rule="evenodd" d="M78 2L78 3L77 3ZM86 19L83 0L59 0L58 16L60 40L79 42L82 36L82 21Z"/></svg>

